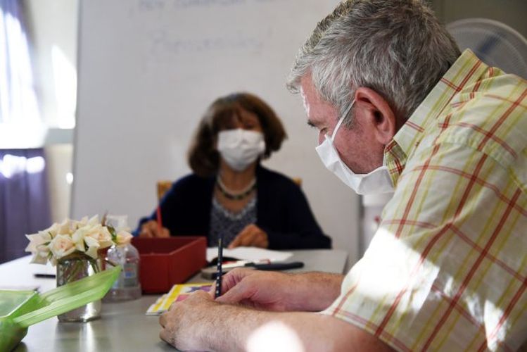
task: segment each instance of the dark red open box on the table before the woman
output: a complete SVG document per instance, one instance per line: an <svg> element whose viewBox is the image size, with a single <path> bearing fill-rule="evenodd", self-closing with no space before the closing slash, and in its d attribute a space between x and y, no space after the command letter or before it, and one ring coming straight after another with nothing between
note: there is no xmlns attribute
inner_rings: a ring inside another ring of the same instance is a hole
<svg viewBox="0 0 527 352"><path fill-rule="evenodd" d="M134 238L139 251L139 278L146 294L165 293L182 284L206 264L205 237Z"/></svg>

